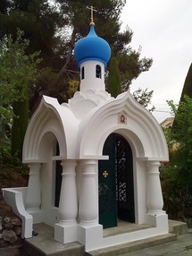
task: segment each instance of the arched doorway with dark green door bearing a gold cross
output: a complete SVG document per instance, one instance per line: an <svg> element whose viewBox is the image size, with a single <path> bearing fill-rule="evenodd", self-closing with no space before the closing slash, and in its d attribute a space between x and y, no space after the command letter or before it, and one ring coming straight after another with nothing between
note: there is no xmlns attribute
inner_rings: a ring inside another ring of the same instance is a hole
<svg viewBox="0 0 192 256"><path fill-rule="evenodd" d="M133 158L129 142L112 133L104 143L103 155L109 160L98 163L99 223L117 226L118 219L135 222Z"/></svg>

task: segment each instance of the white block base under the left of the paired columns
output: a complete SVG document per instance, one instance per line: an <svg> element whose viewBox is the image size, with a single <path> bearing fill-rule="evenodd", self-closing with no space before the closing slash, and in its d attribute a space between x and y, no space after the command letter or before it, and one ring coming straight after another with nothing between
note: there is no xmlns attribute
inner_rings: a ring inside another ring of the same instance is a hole
<svg viewBox="0 0 192 256"><path fill-rule="evenodd" d="M54 225L54 239L61 243L71 243L78 240L77 224L57 223Z"/></svg>

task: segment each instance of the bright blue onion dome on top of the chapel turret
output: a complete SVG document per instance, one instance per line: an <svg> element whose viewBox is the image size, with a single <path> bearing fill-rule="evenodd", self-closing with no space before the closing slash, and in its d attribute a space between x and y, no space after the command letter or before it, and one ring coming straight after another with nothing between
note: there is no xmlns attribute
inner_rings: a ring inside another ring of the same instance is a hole
<svg viewBox="0 0 192 256"><path fill-rule="evenodd" d="M106 66L111 56L111 47L104 38L96 35L94 25L91 24L88 36L75 44L74 55L79 66L88 60L97 60Z"/></svg>

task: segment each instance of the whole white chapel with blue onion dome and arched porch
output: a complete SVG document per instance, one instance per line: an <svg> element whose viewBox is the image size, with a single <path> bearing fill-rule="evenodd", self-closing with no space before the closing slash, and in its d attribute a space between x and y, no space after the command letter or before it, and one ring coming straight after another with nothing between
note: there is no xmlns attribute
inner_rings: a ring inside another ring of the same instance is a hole
<svg viewBox="0 0 192 256"><path fill-rule="evenodd" d="M42 98L23 145L29 185L4 190L22 218L22 236L44 222L54 227L55 240L79 241L89 252L167 234L159 166L169 156L160 125L129 91L117 98L106 92L111 48L93 21L74 55L79 91L62 105ZM150 227L104 236L120 222Z"/></svg>

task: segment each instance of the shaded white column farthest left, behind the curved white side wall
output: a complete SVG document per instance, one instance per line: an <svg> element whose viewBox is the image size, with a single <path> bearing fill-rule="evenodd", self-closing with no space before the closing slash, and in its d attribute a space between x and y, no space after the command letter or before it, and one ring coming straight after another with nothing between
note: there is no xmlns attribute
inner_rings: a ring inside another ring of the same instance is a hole
<svg viewBox="0 0 192 256"><path fill-rule="evenodd" d="M40 192L40 163L29 164L29 185L26 195L27 210L37 210L41 205Z"/></svg>

